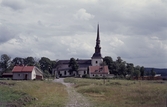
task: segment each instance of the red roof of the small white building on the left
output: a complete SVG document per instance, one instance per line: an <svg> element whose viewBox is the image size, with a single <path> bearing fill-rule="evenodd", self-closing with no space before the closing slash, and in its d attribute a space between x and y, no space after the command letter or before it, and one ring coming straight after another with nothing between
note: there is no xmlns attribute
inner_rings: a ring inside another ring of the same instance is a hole
<svg viewBox="0 0 167 107"><path fill-rule="evenodd" d="M32 72L34 66L15 66L12 72Z"/></svg>

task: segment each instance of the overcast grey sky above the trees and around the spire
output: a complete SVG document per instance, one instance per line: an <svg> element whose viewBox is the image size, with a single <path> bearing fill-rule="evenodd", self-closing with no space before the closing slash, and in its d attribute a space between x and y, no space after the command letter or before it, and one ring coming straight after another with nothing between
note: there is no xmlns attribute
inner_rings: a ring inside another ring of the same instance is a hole
<svg viewBox="0 0 167 107"><path fill-rule="evenodd" d="M0 55L102 56L167 68L167 0L0 0Z"/></svg>

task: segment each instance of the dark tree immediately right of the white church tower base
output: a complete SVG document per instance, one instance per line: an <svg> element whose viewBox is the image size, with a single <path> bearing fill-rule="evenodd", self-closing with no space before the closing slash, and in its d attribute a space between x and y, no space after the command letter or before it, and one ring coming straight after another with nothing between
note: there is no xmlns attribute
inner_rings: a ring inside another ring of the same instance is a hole
<svg viewBox="0 0 167 107"><path fill-rule="evenodd" d="M112 72L112 70L113 70L113 65L114 65L114 62L113 62L112 58L111 58L110 56L105 56L105 57L103 58L103 61L104 61L104 63L108 66L108 69L109 69L110 73L112 74L112 73L113 73L113 72Z"/></svg>

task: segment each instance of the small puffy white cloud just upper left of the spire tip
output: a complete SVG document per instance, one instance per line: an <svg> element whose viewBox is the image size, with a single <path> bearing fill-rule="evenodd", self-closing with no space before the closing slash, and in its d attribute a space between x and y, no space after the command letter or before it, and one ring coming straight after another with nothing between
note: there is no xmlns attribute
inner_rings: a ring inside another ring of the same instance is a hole
<svg viewBox="0 0 167 107"><path fill-rule="evenodd" d="M87 13L85 9L79 9L76 14L74 14L74 17L76 19L80 20L90 20L94 18L94 15L91 15L90 13Z"/></svg>

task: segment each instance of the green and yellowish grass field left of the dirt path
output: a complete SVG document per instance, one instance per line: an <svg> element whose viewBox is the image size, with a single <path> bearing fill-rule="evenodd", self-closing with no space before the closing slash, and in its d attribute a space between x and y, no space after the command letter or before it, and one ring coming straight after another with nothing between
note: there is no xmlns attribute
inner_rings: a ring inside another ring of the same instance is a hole
<svg viewBox="0 0 167 107"><path fill-rule="evenodd" d="M51 81L0 82L0 107L64 107L68 98L65 86Z"/></svg>

